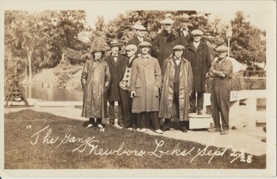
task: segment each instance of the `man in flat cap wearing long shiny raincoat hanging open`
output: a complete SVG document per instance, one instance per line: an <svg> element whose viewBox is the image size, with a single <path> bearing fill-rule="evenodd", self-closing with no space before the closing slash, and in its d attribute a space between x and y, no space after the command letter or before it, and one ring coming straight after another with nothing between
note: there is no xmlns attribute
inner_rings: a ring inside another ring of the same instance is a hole
<svg viewBox="0 0 277 179"><path fill-rule="evenodd" d="M184 49L184 46L175 46L172 49L172 55L163 61L161 68L163 87L161 90L159 117L165 118L163 131L170 130L173 104L176 106L181 131L186 133L188 129L188 105L192 89L193 71L190 62L182 57Z"/></svg>

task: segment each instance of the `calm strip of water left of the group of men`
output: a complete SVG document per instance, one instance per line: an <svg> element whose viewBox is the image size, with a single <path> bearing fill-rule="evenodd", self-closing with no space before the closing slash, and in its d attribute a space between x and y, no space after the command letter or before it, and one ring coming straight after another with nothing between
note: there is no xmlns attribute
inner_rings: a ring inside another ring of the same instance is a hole
<svg viewBox="0 0 277 179"><path fill-rule="evenodd" d="M47 101L82 101L83 91L64 88L41 88L22 85L27 98ZM27 92L27 93L26 93Z"/></svg>

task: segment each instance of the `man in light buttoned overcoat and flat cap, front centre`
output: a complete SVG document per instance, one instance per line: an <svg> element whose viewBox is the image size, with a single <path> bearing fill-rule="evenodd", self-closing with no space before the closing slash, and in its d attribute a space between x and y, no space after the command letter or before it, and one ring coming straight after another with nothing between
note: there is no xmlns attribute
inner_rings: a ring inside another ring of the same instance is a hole
<svg viewBox="0 0 277 179"><path fill-rule="evenodd" d="M133 97L132 112L138 113L137 119L141 131L147 129L146 115L149 114L154 125L154 131L163 133L159 124L159 91L161 89L161 68L159 62L149 55L151 44L141 42L141 55L134 59L129 90Z"/></svg>

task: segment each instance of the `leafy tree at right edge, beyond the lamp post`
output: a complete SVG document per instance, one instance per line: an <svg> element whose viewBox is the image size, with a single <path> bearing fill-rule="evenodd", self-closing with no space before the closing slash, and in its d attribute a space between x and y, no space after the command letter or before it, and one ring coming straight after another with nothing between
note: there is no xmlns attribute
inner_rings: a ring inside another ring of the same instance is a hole
<svg viewBox="0 0 277 179"><path fill-rule="evenodd" d="M266 61L265 32L246 21L242 11L235 12L231 20L233 35L231 37L231 53L239 62L248 65Z"/></svg>

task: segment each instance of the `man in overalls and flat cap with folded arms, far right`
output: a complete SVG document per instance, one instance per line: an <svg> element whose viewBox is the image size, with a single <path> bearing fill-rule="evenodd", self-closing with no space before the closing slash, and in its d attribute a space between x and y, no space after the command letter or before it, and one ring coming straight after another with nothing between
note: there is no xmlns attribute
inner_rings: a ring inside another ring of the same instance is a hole
<svg viewBox="0 0 277 179"><path fill-rule="evenodd" d="M220 132L221 135L226 135L229 133L229 105L233 63L231 59L227 57L228 47L219 46L216 48L216 51L218 57L215 58L206 76L214 77L211 91L211 113L215 126L214 128L208 129L208 131ZM220 125L220 116L222 126Z"/></svg>

